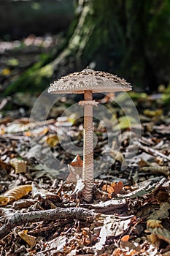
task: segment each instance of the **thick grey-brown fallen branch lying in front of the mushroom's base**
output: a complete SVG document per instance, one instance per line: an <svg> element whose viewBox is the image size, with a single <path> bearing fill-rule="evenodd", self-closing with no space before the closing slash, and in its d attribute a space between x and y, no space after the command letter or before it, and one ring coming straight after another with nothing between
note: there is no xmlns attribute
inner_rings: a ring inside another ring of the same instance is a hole
<svg viewBox="0 0 170 256"><path fill-rule="evenodd" d="M40 222L49 221L55 219L80 219L88 222L93 222L94 219L99 217L100 214L96 214L85 208L55 208L45 211L32 211L28 213L15 213L6 216L6 223L0 227L0 238L9 233L9 231L18 225L25 224L26 222Z"/></svg>

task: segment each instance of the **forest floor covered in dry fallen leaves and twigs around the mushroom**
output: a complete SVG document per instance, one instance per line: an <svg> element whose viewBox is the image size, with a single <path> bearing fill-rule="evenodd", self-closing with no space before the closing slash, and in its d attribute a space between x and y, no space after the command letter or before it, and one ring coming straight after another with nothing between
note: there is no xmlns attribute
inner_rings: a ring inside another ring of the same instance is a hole
<svg viewBox="0 0 170 256"><path fill-rule="evenodd" d="M18 67L7 56L1 91ZM50 105L47 94L1 97L0 255L170 255L170 112L162 94L94 97L103 107L94 113L89 203L74 154L83 145L83 116L72 109L79 99Z"/></svg>

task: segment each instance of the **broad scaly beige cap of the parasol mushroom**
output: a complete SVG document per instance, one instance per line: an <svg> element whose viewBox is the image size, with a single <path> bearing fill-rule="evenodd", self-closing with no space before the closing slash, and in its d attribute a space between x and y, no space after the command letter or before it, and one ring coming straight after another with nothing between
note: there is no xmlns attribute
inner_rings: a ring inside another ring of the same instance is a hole
<svg viewBox="0 0 170 256"><path fill-rule="evenodd" d="M50 84L48 92L51 94L83 94L84 91L112 92L131 91L130 83L107 72L83 69L65 75Z"/></svg>

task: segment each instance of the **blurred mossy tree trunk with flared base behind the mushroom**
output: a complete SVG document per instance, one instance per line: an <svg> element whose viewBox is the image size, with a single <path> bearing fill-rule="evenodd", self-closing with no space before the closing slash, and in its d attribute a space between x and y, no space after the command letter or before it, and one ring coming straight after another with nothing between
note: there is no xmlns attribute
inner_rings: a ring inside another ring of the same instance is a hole
<svg viewBox="0 0 170 256"><path fill-rule="evenodd" d="M169 0L77 0L63 48L52 60L36 64L13 89L24 82L45 88L53 79L86 66L151 89L168 83L169 15Z"/></svg>

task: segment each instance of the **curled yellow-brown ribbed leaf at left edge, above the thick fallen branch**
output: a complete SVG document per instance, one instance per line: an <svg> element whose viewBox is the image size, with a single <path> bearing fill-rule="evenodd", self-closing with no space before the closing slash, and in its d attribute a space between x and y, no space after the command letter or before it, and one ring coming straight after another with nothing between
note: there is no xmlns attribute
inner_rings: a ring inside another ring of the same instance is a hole
<svg viewBox="0 0 170 256"><path fill-rule="evenodd" d="M0 206L6 206L7 203L19 200L21 197L26 196L31 190L31 185L22 185L8 190L3 195L0 195Z"/></svg>

